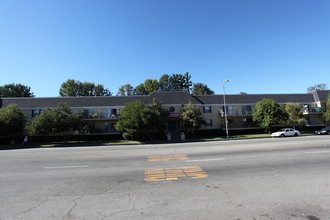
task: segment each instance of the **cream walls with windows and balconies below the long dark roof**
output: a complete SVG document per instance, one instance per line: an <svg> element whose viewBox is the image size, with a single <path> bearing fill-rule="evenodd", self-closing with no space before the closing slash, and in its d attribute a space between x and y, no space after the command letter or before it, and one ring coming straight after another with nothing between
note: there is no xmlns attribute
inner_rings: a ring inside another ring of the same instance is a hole
<svg viewBox="0 0 330 220"><path fill-rule="evenodd" d="M325 102L309 102L300 103L304 112L307 126L324 125L323 111ZM253 122L252 112L256 103L250 104L227 104L227 119L229 129L248 129L256 128L256 123ZM198 104L196 105L205 120L208 122L202 126L203 130L210 129L225 129L224 106L222 104ZM181 104L167 104L163 107L171 113L181 114ZM102 107L75 107L72 108L74 113L84 112L84 120L95 125L95 131L106 133L109 131L109 125L113 126L120 119L120 111L124 106L102 106ZM28 120L32 120L36 115L40 114L38 108L22 109ZM179 118L177 118L179 120ZM113 129L110 129L113 131Z"/></svg>

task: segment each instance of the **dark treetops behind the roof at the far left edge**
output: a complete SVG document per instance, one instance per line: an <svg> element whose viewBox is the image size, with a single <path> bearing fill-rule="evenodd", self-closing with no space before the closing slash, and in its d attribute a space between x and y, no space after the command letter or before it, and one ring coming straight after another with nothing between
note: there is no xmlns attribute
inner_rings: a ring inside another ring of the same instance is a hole
<svg viewBox="0 0 330 220"><path fill-rule="evenodd" d="M0 86L0 97L34 97L34 94L30 87L12 83Z"/></svg>

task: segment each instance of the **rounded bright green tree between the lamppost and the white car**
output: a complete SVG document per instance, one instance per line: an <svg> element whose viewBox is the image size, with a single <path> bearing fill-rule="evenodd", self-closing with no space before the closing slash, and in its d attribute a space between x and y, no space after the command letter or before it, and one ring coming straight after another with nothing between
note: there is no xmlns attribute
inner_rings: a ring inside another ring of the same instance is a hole
<svg viewBox="0 0 330 220"><path fill-rule="evenodd" d="M270 132L270 128L274 125L278 125L286 122L288 114L284 110L284 106L277 104L272 99L262 99L257 102L254 112L253 120Z"/></svg>

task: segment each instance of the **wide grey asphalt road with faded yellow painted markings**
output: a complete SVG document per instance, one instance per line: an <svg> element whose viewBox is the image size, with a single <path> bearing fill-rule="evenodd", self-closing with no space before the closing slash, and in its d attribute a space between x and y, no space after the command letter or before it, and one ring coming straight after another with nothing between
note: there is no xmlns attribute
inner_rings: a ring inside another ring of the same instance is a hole
<svg viewBox="0 0 330 220"><path fill-rule="evenodd" d="M330 219L330 136L0 151L0 220Z"/></svg>

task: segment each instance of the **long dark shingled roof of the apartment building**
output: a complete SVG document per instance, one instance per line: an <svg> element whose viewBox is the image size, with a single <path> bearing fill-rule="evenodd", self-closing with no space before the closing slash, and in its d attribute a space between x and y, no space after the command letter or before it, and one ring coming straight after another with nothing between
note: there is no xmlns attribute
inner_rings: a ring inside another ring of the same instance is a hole
<svg viewBox="0 0 330 220"><path fill-rule="evenodd" d="M263 98L273 99L278 103L313 103L326 102L330 90L313 91L304 94L246 94L246 95L226 95L226 104L252 104ZM52 108L59 103L66 102L70 107L108 107L125 106L126 103L141 100L145 104L150 104L153 99L157 99L163 105L181 105L189 102L198 105L223 104L223 95L190 95L183 91L162 91L154 92L146 96L84 96L84 97L53 97L53 98L1 98L2 106L15 103L20 108Z"/></svg>

